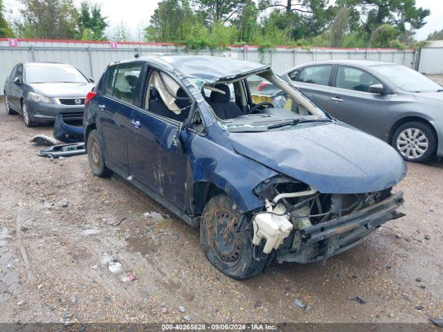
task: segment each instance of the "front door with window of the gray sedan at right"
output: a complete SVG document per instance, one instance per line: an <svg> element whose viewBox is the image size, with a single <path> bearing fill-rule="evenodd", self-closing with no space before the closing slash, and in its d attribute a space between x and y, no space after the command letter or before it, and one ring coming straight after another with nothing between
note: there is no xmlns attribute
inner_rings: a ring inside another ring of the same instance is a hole
<svg viewBox="0 0 443 332"><path fill-rule="evenodd" d="M337 66L327 111L338 120L381 138L391 95L370 93L372 84L383 82L361 68Z"/></svg>

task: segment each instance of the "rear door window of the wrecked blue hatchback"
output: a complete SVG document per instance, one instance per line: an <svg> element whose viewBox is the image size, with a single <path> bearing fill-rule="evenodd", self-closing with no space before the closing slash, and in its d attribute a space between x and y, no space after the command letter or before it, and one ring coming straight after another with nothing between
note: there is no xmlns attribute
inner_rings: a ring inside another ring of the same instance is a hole
<svg viewBox="0 0 443 332"><path fill-rule="evenodd" d="M140 73L143 64L124 64L118 66L116 82L112 95L128 104L134 104L140 86Z"/></svg>

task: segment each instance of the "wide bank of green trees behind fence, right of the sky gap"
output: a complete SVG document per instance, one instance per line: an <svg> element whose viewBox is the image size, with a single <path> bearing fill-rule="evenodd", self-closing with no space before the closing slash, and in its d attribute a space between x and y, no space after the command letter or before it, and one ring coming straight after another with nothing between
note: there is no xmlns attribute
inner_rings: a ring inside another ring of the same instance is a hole
<svg viewBox="0 0 443 332"><path fill-rule="evenodd" d="M415 0L162 0L145 39L188 48L228 44L288 46L413 46L429 11ZM194 6L191 6L194 5Z"/></svg>

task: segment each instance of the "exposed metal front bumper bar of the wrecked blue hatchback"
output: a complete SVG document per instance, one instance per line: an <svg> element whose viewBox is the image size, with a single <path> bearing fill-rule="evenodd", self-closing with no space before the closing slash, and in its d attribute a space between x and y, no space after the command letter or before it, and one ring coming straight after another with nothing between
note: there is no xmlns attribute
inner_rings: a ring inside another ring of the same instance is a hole
<svg viewBox="0 0 443 332"><path fill-rule="evenodd" d="M404 216L396 211L403 202L403 192L397 192L368 208L302 230L300 250L278 255L277 260L313 263L337 255L361 243L386 221Z"/></svg>

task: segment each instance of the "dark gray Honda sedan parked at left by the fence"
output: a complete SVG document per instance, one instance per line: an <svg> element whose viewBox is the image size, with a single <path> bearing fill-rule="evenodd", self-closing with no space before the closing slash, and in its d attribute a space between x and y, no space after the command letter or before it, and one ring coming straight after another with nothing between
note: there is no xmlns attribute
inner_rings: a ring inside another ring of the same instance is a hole
<svg viewBox="0 0 443 332"><path fill-rule="evenodd" d="M17 64L6 77L3 93L8 114L21 113L27 127L64 120L82 120L84 98L93 80L69 64L28 62Z"/></svg>

